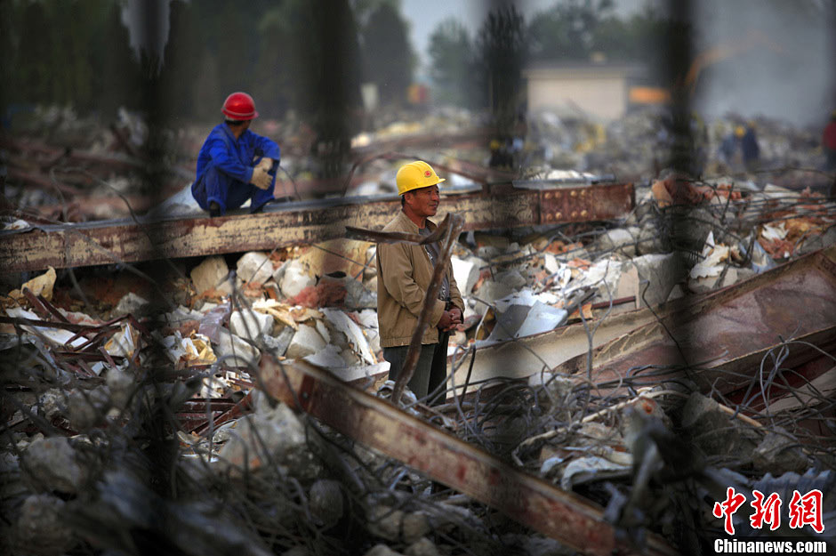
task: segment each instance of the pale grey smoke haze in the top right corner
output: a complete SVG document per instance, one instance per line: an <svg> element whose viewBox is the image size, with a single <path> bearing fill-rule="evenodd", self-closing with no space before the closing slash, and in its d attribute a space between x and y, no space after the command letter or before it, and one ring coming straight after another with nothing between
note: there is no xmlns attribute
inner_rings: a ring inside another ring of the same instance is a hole
<svg viewBox="0 0 836 556"><path fill-rule="evenodd" d="M719 49L698 77L695 108L822 124L833 108L833 4L799 0L695 3L695 53ZM720 53L721 52L721 53Z"/></svg>

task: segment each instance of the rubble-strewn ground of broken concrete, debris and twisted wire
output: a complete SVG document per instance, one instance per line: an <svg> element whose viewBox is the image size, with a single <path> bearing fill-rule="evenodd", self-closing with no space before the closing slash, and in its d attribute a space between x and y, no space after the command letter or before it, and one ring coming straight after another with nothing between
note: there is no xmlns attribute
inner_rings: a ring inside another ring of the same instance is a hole
<svg viewBox="0 0 836 556"><path fill-rule="evenodd" d="M671 302L742 287L829 247L825 257L836 264L836 205L822 186L833 176L797 170L821 164L810 134L760 122L764 172L736 173L712 155L730 123L708 126L703 173L682 175L655 168L669 145L647 114L606 130L581 118L532 118L522 156L539 173L527 178L566 167L628 176L635 209L623 222L462 234L452 258L467 304L465 330L449 350L456 383L442 407L407 403L414 415L599 504L639 546L645 530L673 545L698 544L722 524L694 506L722 500L733 485L781 493L787 503L793 489L817 488L824 527L836 527L836 322L805 340L815 357L800 361L791 357L793 330L776 329L776 349L744 367L740 391L701 390L691 380L647 386L634 383L634 369L620 369L617 388L559 372L587 348L591 369L593 342L603 343L617 318L618 326L638 323L644 311L641 324L663 323ZM129 115L124 128L141 137ZM172 140L190 148L188 137ZM107 151L100 141L83 147ZM488 153L457 147L443 156L485 163ZM30 159L12 152L6 164L20 170ZM97 164L112 167L108 160ZM367 173L380 170L379 179L353 192L390 191L394 167L375 162ZM52 191L29 190L30 174L13 175L7 197L19 206L60 204ZM113 189L122 179L114 172L68 184ZM15 214L20 225L31 216ZM53 208L39 215L57 216ZM390 393L374 244L339 239L4 281L4 552L574 553L263 393L262 358L304 359ZM739 323L740 342L748 325ZM511 344L543 361L537 342L566 338L571 326L582 347L565 359L473 370L474 353ZM793 533L786 524L782 531Z"/></svg>

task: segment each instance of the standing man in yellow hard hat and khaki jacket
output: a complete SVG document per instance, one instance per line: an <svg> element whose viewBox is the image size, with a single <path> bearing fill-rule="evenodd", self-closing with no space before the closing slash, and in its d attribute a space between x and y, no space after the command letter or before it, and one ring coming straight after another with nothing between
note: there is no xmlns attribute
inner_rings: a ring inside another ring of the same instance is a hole
<svg viewBox="0 0 836 556"><path fill-rule="evenodd" d="M429 236L436 229L430 221L441 198L435 170L421 160L403 165L395 178L401 210L383 231L402 231ZM381 243L377 246L377 320L380 326L383 359L390 363L389 377L398 380L406 351L418 324L424 295L430 287L432 269L440 246ZM422 336L422 349L412 379L407 383L418 397L433 394L430 402L443 402L446 381L449 331L462 323L464 302L449 263L430 314L430 326ZM438 392L434 392L438 389Z"/></svg>

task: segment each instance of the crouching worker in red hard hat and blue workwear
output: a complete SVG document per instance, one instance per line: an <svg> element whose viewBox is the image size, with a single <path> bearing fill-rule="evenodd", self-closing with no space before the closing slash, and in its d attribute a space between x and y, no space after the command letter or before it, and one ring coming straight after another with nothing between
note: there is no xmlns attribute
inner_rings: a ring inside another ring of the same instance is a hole
<svg viewBox="0 0 836 556"><path fill-rule="evenodd" d="M258 117L249 94L230 94L221 112L224 122L214 126L197 155L191 194L210 216L226 214L247 199L250 213L259 213L274 198L278 145L249 130Z"/></svg>

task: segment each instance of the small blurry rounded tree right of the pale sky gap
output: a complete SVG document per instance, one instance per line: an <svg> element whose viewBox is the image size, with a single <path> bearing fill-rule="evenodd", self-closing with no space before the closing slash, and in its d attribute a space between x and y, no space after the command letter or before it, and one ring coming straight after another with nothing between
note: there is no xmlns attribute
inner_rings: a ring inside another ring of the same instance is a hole
<svg viewBox="0 0 836 556"><path fill-rule="evenodd" d="M473 44L467 28L454 18L438 24L430 35L430 77L438 101L470 106Z"/></svg>

